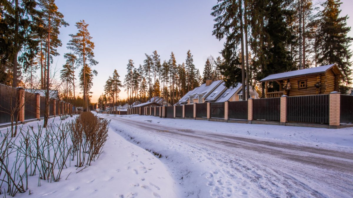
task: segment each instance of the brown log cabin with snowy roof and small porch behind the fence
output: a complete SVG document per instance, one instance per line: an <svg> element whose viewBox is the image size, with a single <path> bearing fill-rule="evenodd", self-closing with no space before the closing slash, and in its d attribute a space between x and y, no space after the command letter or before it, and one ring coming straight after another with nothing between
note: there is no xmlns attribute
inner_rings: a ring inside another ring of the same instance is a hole
<svg viewBox="0 0 353 198"><path fill-rule="evenodd" d="M342 76L343 74L336 64L329 64L272 74L260 80L260 82L265 82L265 98L276 98L282 95L318 95L333 91L338 92ZM279 85L279 90L268 92L269 82L272 82L272 85Z"/></svg>

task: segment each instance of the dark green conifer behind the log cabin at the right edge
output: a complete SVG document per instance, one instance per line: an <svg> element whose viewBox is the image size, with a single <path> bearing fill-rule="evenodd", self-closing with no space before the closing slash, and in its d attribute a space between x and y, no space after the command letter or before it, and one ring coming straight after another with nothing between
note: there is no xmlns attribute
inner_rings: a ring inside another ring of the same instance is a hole
<svg viewBox="0 0 353 198"><path fill-rule="evenodd" d="M321 65L336 63L343 73L343 82L351 83L352 69L349 49L352 37L347 34L351 27L347 26L348 16L339 17L340 0L327 0L322 4L321 23L318 33L318 63Z"/></svg>

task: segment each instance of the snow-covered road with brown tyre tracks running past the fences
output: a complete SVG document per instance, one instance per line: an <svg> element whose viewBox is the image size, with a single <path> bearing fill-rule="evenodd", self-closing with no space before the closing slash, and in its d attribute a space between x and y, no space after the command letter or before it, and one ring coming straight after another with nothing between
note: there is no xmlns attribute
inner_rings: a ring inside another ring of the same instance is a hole
<svg viewBox="0 0 353 198"><path fill-rule="evenodd" d="M162 155L161 161L183 190L180 197L353 197L350 146L309 146L196 130L183 126L186 120L167 126L152 116L135 116L146 121L133 116L100 116L112 119L110 128L127 140ZM216 128L225 125L207 123ZM260 133L282 126L251 127Z"/></svg>

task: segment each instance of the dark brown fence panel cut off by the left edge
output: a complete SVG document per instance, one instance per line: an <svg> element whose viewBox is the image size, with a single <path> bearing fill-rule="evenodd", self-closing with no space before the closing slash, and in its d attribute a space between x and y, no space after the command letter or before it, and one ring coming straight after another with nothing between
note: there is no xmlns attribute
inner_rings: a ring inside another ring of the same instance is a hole
<svg viewBox="0 0 353 198"><path fill-rule="evenodd" d="M0 123L17 120L18 102L18 89L0 84Z"/></svg>

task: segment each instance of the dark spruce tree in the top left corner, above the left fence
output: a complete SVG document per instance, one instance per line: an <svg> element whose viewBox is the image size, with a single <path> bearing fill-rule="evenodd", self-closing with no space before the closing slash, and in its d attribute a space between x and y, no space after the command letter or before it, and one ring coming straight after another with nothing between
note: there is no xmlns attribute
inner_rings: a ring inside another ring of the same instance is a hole
<svg viewBox="0 0 353 198"><path fill-rule="evenodd" d="M0 3L0 67L12 68L12 87L18 86L18 63L27 68L36 55L39 41L34 35L45 31L36 6L35 0ZM5 79L11 75L2 73Z"/></svg>

